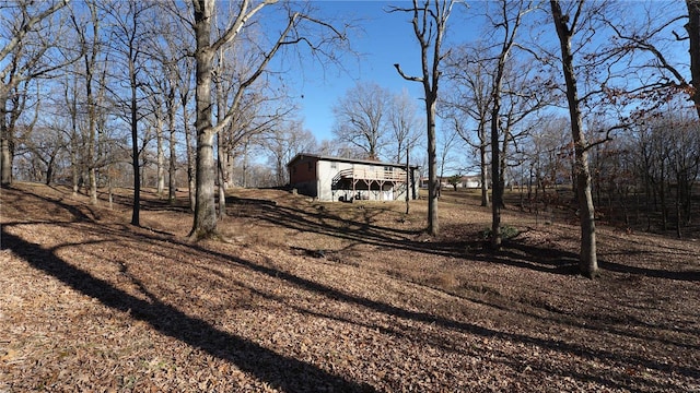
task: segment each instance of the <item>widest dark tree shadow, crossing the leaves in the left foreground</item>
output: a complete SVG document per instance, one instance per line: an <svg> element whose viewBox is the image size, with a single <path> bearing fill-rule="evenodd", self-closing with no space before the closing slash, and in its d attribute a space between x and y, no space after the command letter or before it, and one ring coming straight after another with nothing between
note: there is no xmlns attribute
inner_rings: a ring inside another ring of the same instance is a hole
<svg viewBox="0 0 700 393"><path fill-rule="evenodd" d="M283 356L248 340L221 331L206 321L185 314L155 296L139 299L108 282L72 266L56 255L56 249L44 249L1 230L2 249L12 250L33 267L49 274L85 296L131 318L147 322L162 334L179 340L212 356L235 364L242 371L289 392L339 391L374 392L371 385L349 381L314 365Z"/></svg>

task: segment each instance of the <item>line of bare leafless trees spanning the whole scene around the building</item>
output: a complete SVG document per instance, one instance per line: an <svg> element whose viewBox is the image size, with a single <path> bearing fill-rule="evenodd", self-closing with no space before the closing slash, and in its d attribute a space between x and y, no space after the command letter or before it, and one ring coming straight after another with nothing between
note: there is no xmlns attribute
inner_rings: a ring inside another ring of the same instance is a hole
<svg viewBox="0 0 700 393"><path fill-rule="evenodd" d="M152 181L174 201L180 179L191 237L202 238L218 236L225 188L254 184L253 170L283 184L295 153L424 157L428 231L438 235L439 178L447 151L459 148L480 174L494 250L509 184L546 203L569 184L580 270L593 277L594 206L623 201L623 219L651 229L654 212L681 236L700 167L700 1L628 5L387 4L419 44L420 73L395 68L422 87L423 107L358 83L332 107L335 140L318 143L283 87L293 76L270 69L281 55L332 64L352 51L350 23L320 17L313 2L3 2L1 182L19 174L48 183L61 171L97 203L98 187L130 181L139 225L140 188ZM267 169L253 159L260 155Z"/></svg>

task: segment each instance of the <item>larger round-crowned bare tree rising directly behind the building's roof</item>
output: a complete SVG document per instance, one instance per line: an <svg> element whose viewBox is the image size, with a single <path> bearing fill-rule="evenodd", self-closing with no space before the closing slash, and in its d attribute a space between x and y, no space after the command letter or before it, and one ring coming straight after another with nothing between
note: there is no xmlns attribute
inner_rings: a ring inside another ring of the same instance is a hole
<svg viewBox="0 0 700 393"><path fill-rule="evenodd" d="M357 83L334 105L336 140L365 151L368 159L378 159L387 138L390 93L373 82Z"/></svg>

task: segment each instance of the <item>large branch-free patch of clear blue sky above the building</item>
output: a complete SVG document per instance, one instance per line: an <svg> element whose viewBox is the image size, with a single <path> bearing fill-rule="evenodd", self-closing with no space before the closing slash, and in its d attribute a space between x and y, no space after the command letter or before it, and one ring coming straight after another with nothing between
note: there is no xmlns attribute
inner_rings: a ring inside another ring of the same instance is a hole
<svg viewBox="0 0 700 393"><path fill-rule="evenodd" d="M386 13L388 1L316 1L324 15L357 21L359 29L350 34L350 45L361 53L347 56L345 70L329 66L305 64L303 80L293 84L300 97L300 117L318 141L332 138L331 107L359 81L375 82L393 93L402 88L420 99L422 86L401 79L394 63L409 74L420 73L420 49L406 13Z"/></svg>

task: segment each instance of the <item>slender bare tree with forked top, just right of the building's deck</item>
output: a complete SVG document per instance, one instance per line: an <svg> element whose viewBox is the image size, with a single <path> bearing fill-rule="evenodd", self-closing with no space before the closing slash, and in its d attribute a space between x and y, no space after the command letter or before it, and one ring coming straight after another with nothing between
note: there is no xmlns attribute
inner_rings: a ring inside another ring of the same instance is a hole
<svg viewBox="0 0 700 393"><path fill-rule="evenodd" d="M413 0L412 8L392 8L392 12L407 12L412 15L413 33L421 49L421 76L410 76L401 70L400 64L394 64L399 75L407 81L419 82L423 86L425 97L425 123L428 131L428 233L436 236L438 195L440 180L438 179L438 158L435 153L435 105L438 103L438 87L440 82L440 62L445 59L442 44L447 20L454 5L453 0L424 0L420 5Z"/></svg>

